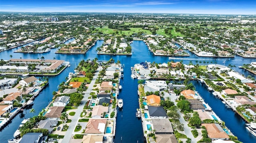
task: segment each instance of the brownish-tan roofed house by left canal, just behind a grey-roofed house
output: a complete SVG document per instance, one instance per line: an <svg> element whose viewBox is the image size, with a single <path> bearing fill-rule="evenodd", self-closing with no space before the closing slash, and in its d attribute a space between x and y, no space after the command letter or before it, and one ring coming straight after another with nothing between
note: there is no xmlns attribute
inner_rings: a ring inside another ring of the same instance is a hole
<svg viewBox="0 0 256 143"><path fill-rule="evenodd" d="M63 106L52 106L44 116L46 119L57 119L60 121L60 116L64 108Z"/></svg>

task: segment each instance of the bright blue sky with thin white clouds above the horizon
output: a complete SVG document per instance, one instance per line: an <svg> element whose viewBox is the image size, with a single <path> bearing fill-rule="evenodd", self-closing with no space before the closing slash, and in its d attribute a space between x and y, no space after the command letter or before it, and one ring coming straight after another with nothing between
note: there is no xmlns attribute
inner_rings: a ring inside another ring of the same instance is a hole
<svg viewBox="0 0 256 143"><path fill-rule="evenodd" d="M256 14L256 0L0 0L0 11Z"/></svg>

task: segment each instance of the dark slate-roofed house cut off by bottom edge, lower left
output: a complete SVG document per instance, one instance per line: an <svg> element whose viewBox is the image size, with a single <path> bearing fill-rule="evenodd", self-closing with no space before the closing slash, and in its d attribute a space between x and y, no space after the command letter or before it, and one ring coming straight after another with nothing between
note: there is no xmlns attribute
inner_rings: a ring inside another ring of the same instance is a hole
<svg viewBox="0 0 256 143"><path fill-rule="evenodd" d="M43 133L26 133L19 143L45 143L46 139Z"/></svg>

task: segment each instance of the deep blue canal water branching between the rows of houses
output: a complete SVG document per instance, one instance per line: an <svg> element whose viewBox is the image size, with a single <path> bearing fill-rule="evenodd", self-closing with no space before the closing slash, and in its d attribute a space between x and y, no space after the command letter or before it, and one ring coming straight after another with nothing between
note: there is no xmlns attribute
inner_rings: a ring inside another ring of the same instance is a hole
<svg viewBox="0 0 256 143"><path fill-rule="evenodd" d="M66 43L73 41L74 39L68 40ZM130 67L134 66L136 63L141 63L145 61L156 63L167 63L168 57L166 56L154 56L151 53L143 41L133 41L132 46L132 55L97 55L96 49L102 45L103 41L98 40L87 53L85 54L55 54L57 49L52 49L48 53L13 53L18 48L14 48L8 51L3 51L0 53L0 59L9 60L10 55L12 58L20 58L22 59L37 59L44 56L44 59L53 59L54 57L59 60L69 61L71 66L67 67L62 73L58 76L48 76L49 84L42 90L41 94L39 94L35 98L35 103L31 108L34 108L36 113L34 115L38 115L39 112L45 108L49 101L52 100L52 92L57 90L57 86L60 82L64 81L65 77L68 76L69 72L74 72L74 68L78 65L78 63L84 59L94 59L97 57L99 60L108 61L110 58L113 58L115 61L119 60L122 64L124 64L124 78L120 80L120 85L122 85L122 90L117 98L122 98L124 100L124 106L122 110L118 109L118 114L116 117L116 136L114 139L115 143L143 143L143 131L141 120L137 119L135 116L136 109L139 108L138 105L138 80L134 80L130 77L131 71ZM188 51L189 52L189 51ZM231 64L236 65L234 70L247 75L252 75L249 72L238 69L238 66L242 66L243 64L248 64L253 61L253 59L246 59L239 56L235 56L234 58L208 58L208 57L197 57L193 53L190 53L190 57L176 57L177 59L173 59L172 61L183 61L184 64L188 64L190 61L193 64L196 64L196 60L198 61L206 61L210 63L217 63L220 65ZM203 63L202 63L203 64ZM255 77L252 75L252 77ZM199 82L192 81L193 84L196 85L196 89L198 92L205 98L206 102L212 107L214 112L225 121L226 125L229 129L238 137L238 139L244 143L252 143L256 141L256 137L252 136L248 131L246 131L244 127L244 121L234 114L234 112L230 109L226 109L224 104L218 99L214 98L214 96L210 95L206 88L201 85ZM209 95L208 95L209 94ZM206 97L204 97L206 96ZM212 99L207 100L208 98L213 97ZM223 106L223 108L222 108ZM216 110L216 111L215 111ZM18 114L12 122L5 127L0 132L0 142L6 143L7 139L13 138L13 133L16 131L21 121L24 118L30 118L33 116L32 113L29 113L30 109L24 110L22 113ZM225 118L226 117L226 118Z"/></svg>

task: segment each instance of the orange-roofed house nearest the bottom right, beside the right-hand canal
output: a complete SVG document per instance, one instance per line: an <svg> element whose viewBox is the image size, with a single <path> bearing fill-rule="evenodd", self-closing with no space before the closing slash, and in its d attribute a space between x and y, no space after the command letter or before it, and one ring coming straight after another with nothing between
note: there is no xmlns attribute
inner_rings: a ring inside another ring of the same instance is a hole
<svg viewBox="0 0 256 143"><path fill-rule="evenodd" d="M212 140L222 139L228 140L228 134L222 129L218 123L202 123L202 126L206 128L208 137Z"/></svg>

